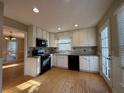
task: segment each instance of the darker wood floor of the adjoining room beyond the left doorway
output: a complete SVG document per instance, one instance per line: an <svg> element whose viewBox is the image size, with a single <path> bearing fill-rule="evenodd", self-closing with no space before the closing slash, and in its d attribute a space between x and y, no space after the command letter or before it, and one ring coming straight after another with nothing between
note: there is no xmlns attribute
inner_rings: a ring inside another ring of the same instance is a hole
<svg viewBox="0 0 124 93"><path fill-rule="evenodd" d="M24 65L23 63L14 63L3 65L3 91L10 90L12 87L18 84L24 83L32 79L29 76L24 76ZM11 93L11 92L9 92Z"/></svg>

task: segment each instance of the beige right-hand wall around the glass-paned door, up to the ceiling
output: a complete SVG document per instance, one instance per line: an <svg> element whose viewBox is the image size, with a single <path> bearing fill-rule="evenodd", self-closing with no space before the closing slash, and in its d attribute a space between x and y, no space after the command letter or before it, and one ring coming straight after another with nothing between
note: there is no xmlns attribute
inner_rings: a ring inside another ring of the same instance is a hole
<svg viewBox="0 0 124 93"><path fill-rule="evenodd" d="M110 36L111 36L111 52L112 52L112 80L111 84L113 93L124 93L124 88L120 85L122 82L122 68L119 61L119 44L118 44L118 28L117 28L117 17L115 15L116 10L124 3L124 0L114 0L112 6L106 12L105 16L100 20L97 29L99 30L98 35L100 36L100 29L109 20L110 24ZM99 38L100 41L100 38ZM100 53L100 44L99 44Z"/></svg>

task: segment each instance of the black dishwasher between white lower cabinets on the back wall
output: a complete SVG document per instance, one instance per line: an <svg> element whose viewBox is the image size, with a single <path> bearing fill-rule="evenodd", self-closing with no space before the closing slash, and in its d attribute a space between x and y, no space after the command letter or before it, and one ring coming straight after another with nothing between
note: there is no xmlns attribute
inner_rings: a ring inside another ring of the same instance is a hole
<svg viewBox="0 0 124 93"><path fill-rule="evenodd" d="M79 56L77 55L68 56L68 69L79 71Z"/></svg>

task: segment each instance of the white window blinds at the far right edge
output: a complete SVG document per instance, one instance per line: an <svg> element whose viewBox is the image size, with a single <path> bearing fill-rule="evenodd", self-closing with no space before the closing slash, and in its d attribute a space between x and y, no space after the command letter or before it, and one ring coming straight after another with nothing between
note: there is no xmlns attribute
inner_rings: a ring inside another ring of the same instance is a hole
<svg viewBox="0 0 124 93"><path fill-rule="evenodd" d="M118 12L117 16L119 28L120 61L124 67L124 8Z"/></svg>

